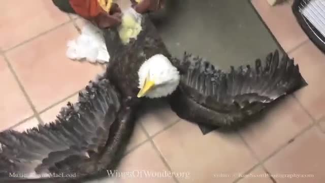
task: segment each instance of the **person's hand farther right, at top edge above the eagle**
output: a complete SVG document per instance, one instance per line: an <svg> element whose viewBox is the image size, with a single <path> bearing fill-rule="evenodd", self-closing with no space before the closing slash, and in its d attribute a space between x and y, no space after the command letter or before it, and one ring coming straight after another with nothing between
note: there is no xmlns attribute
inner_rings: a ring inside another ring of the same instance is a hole
<svg viewBox="0 0 325 183"><path fill-rule="evenodd" d="M158 11L163 9L165 6L165 0L141 0L140 3L131 0L131 2L133 3L136 12L141 14Z"/></svg>

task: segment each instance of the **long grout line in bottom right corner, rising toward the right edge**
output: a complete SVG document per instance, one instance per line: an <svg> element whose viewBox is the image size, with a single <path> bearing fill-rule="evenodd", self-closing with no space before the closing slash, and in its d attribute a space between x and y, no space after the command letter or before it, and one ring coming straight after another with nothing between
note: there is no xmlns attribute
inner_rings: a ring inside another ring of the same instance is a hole
<svg viewBox="0 0 325 183"><path fill-rule="evenodd" d="M307 126L306 128L304 128L302 131L300 131L298 134L296 134L293 138L291 139L296 139L299 136L303 135L305 132L307 132L308 130L310 130L311 128L313 128L316 124L312 123L309 126ZM289 140L290 141L290 140ZM259 162L258 164L256 164L255 166L253 166L253 168L249 169L247 172L245 172L244 174L248 174L250 173L254 168L256 168L257 166L263 166L264 167L264 163L266 161L268 161L269 159L271 159L274 155L278 154L282 149L284 149L285 147L287 147L290 143L284 143L282 145L280 145L277 149L275 149L269 156L267 156L266 158L264 158L261 162ZM234 180L233 183L237 183L240 179L242 179L243 177L239 177L236 180Z"/></svg>

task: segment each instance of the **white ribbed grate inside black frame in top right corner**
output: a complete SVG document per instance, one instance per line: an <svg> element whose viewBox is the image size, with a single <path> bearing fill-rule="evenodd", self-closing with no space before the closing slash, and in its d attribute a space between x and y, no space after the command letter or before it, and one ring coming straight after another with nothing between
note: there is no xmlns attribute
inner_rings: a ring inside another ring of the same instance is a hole
<svg viewBox="0 0 325 183"><path fill-rule="evenodd" d="M299 10L325 37L325 0L303 0Z"/></svg>

